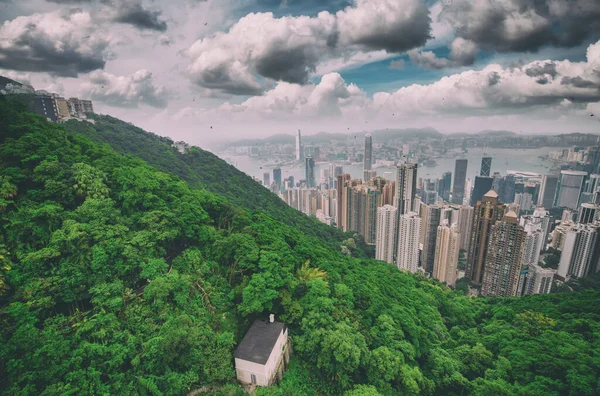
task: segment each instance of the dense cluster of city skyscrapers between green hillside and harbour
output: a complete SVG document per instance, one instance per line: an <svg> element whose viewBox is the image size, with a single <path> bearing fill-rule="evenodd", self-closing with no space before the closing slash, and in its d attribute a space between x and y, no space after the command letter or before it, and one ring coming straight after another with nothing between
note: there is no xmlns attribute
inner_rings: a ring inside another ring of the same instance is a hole
<svg viewBox="0 0 600 396"><path fill-rule="evenodd" d="M432 180L419 178L418 165L405 157L389 180L372 169L373 141L366 135L363 179L331 163L317 182L315 159L305 155L300 131L296 159L305 164L303 181L282 180L275 168L272 182L265 173L265 185L275 186L294 208L362 236L375 246L377 259L401 270L421 271L450 286L464 276L485 296L549 293L555 278L600 270L598 164L588 167L596 170L591 174L563 169L500 175L492 173L492 157L483 157L472 180L467 159L459 158L454 178L449 171ZM545 208L564 209L565 215L554 221ZM547 246L563 252L558 270L541 265Z"/></svg>

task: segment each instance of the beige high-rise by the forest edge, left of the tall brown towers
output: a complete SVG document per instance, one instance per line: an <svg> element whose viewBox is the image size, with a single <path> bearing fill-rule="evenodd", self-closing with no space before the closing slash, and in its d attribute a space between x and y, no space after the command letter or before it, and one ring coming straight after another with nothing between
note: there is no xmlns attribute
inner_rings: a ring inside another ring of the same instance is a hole
<svg viewBox="0 0 600 396"><path fill-rule="evenodd" d="M449 226L447 220L438 226L435 242L435 258L432 277L448 286L456 283L460 235L456 224Z"/></svg>

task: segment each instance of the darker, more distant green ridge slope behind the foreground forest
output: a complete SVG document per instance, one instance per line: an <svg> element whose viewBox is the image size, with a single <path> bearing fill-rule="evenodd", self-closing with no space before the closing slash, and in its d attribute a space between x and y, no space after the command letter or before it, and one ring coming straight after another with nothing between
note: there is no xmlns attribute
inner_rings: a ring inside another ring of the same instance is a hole
<svg viewBox="0 0 600 396"><path fill-rule="evenodd" d="M251 177L208 151L193 147L188 154L182 155L171 147L173 141L168 138L110 116L94 115L93 118L95 124L73 120L64 126L72 133L106 143L119 153L141 158L163 172L219 194L236 206L274 216L332 246L339 246L343 240L352 236L289 207ZM357 241L360 250L355 250L356 254L372 255L372 248L360 243L358 238Z"/></svg>

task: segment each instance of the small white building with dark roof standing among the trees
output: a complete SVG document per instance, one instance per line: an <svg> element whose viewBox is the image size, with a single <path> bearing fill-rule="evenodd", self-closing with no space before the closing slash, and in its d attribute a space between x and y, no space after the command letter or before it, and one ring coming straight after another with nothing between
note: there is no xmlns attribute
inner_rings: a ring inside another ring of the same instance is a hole
<svg viewBox="0 0 600 396"><path fill-rule="evenodd" d="M269 386L281 379L290 358L285 324L256 320L235 352L235 371L242 384Z"/></svg>

